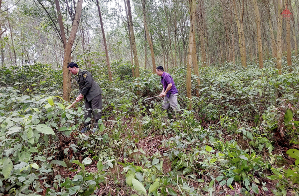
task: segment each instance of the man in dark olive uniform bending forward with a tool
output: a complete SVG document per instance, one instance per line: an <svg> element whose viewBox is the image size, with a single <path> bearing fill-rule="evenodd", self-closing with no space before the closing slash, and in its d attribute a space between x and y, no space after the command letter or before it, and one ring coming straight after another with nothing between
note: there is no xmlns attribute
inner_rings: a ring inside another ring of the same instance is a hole
<svg viewBox="0 0 299 196"><path fill-rule="evenodd" d="M102 118L102 90L100 86L93 80L91 74L86 71L79 69L76 63L69 63L67 66L70 73L75 75L75 79L79 85L79 94L76 98L80 101L82 98L85 100L85 121L93 111L93 116L96 122L96 128L99 128L98 121ZM84 128L81 133L90 130L90 120L84 123ZM95 131L95 130L94 130Z"/></svg>

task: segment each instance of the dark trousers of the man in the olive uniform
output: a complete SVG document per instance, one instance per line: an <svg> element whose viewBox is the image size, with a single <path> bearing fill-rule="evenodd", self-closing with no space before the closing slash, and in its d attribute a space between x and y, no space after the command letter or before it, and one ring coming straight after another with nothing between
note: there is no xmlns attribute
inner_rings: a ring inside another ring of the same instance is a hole
<svg viewBox="0 0 299 196"><path fill-rule="evenodd" d="M91 101L85 100L85 120L89 117L91 119L91 113L93 113L96 128L99 128L98 121L102 118L102 94L93 98ZM88 126L90 121L85 122L84 126Z"/></svg>

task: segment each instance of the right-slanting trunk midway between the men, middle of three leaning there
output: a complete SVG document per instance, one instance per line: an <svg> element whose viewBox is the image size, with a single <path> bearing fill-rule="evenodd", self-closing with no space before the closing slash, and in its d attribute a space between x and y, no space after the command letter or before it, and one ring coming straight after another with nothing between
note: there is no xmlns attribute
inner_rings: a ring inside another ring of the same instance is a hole
<svg viewBox="0 0 299 196"><path fill-rule="evenodd" d="M131 31L132 48L133 48L134 62L135 62L135 76L137 78L139 78L140 77L140 74L139 74L139 61L138 61L137 48L136 48L136 42L135 42L135 35L134 35L133 19L132 19L132 11L131 11L130 0L127 0L127 6L128 6L129 25L130 25L130 31Z"/></svg>

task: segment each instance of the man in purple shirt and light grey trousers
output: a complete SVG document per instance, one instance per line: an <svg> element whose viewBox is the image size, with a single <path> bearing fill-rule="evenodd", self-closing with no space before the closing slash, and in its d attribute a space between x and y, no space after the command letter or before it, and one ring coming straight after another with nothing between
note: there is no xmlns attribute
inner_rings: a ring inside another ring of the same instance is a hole
<svg viewBox="0 0 299 196"><path fill-rule="evenodd" d="M177 110L177 89L175 88L174 82L170 74L164 72L162 66L158 66L156 74L161 77L161 83L163 85L163 91L160 93L160 98L164 97L162 107L167 109L169 106Z"/></svg>

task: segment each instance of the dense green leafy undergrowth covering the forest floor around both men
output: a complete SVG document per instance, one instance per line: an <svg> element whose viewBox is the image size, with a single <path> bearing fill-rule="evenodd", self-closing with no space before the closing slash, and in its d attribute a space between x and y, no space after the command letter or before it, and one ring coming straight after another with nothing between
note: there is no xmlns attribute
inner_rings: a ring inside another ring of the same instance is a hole
<svg viewBox="0 0 299 196"><path fill-rule="evenodd" d="M190 110L186 68L172 68L178 113L143 101L162 88L149 71L134 79L114 62L109 82L106 68L92 67L103 118L86 134L84 103L65 109L61 71L0 68L0 194L298 195L298 61L283 61L283 75L274 59L264 69L202 67Z"/></svg>

